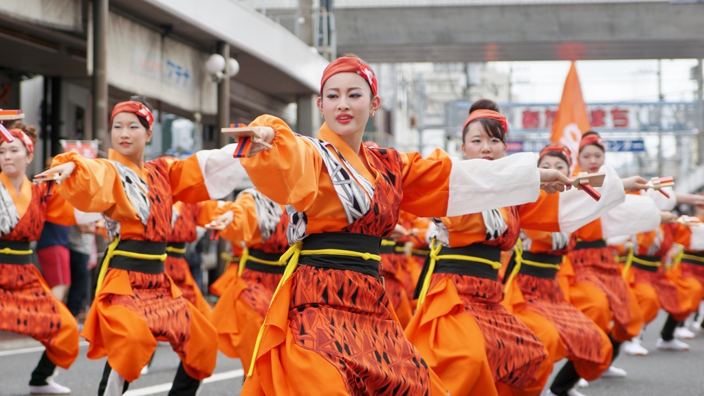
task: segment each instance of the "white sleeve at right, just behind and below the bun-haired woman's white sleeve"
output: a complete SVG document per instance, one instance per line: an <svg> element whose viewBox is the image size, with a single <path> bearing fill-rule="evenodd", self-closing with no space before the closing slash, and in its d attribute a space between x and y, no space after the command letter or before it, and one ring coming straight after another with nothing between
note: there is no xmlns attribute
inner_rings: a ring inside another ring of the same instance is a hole
<svg viewBox="0 0 704 396"><path fill-rule="evenodd" d="M601 236L633 235L655 230L660 225L660 209L653 199L627 194L624 203L601 216Z"/></svg>

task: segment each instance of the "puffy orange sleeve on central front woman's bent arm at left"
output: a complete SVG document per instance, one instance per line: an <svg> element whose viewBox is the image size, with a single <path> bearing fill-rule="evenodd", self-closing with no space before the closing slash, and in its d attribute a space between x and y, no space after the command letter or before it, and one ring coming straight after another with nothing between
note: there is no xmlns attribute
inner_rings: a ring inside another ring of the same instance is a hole
<svg viewBox="0 0 704 396"><path fill-rule="evenodd" d="M268 126L275 131L272 149L240 159L253 185L278 204L290 204L296 211L308 210L318 197L323 165L318 150L274 116L260 116L250 126Z"/></svg>

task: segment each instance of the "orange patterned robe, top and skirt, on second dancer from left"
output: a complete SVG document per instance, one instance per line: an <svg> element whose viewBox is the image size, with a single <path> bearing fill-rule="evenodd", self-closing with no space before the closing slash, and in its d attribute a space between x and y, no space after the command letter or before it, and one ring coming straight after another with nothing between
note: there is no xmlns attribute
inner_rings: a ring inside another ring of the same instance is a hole
<svg viewBox="0 0 704 396"><path fill-rule="evenodd" d="M142 168L114 150L107 160L59 154L54 165L73 161L77 167L56 192L77 209L101 212L119 224L120 240L165 243L172 234L173 202L211 198L210 179L201 173L201 166L207 169L209 164L201 161L216 151L200 151L184 160L162 157ZM198 380L210 376L218 354L215 328L166 273L109 268L81 335L90 342L89 359L107 356L128 382L139 378L157 340L170 342L185 371Z"/></svg>

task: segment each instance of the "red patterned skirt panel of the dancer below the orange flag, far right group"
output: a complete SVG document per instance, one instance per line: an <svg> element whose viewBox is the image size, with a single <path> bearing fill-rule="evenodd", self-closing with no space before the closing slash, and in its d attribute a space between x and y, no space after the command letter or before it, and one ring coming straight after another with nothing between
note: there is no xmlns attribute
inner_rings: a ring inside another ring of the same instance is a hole
<svg viewBox="0 0 704 396"><path fill-rule="evenodd" d="M574 282L598 287L609 300L615 323L626 328L631 320L627 285L618 270L613 251L608 247L577 249L567 257L574 268Z"/></svg>

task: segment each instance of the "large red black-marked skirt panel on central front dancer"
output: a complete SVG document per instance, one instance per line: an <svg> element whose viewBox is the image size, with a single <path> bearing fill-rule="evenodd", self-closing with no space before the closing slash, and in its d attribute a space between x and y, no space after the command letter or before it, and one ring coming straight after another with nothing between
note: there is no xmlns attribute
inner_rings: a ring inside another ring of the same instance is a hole
<svg viewBox="0 0 704 396"><path fill-rule="evenodd" d="M349 395L429 395L429 369L375 278L301 266L293 290L289 328L296 345L335 366Z"/></svg>

